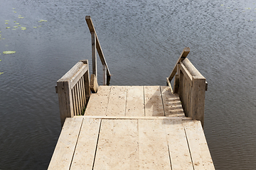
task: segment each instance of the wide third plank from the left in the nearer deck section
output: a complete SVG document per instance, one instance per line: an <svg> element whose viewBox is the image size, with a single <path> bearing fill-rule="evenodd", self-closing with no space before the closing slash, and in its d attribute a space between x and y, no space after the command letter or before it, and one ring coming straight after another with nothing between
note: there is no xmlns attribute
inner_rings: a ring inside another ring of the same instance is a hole
<svg viewBox="0 0 256 170"><path fill-rule="evenodd" d="M139 169L137 120L102 120L93 169Z"/></svg>

